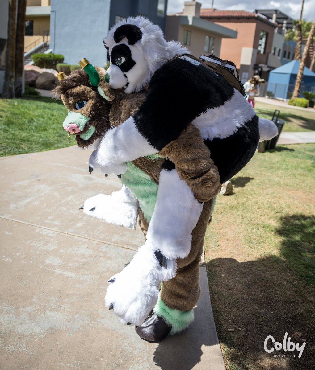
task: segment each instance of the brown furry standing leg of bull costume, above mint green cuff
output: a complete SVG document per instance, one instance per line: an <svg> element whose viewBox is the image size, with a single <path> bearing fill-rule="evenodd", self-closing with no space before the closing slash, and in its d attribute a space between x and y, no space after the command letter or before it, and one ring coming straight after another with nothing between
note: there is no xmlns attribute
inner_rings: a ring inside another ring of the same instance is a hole
<svg viewBox="0 0 315 370"><path fill-rule="evenodd" d="M199 263L211 207L212 199L203 205L199 221L192 232L192 248L189 255L177 260L176 276L162 283L161 299L169 308L182 312L189 311L199 299Z"/></svg>

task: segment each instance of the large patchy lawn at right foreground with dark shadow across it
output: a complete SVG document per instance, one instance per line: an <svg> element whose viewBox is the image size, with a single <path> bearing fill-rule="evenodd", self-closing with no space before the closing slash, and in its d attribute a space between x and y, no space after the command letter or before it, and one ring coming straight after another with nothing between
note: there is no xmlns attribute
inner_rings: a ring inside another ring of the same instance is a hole
<svg viewBox="0 0 315 370"><path fill-rule="evenodd" d="M217 197L205 258L229 370L315 368L314 165L315 144L256 153ZM285 332L306 342L301 359L264 351Z"/></svg>

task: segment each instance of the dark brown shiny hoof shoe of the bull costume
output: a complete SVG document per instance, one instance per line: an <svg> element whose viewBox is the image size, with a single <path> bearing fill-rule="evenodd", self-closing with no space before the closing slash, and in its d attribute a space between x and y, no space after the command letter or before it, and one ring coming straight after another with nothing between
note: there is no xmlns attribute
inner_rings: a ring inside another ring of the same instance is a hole
<svg viewBox="0 0 315 370"><path fill-rule="evenodd" d="M141 339L147 342L157 343L169 335L172 326L167 324L162 317L153 313L151 317L148 316L145 322L137 325L135 329Z"/></svg>

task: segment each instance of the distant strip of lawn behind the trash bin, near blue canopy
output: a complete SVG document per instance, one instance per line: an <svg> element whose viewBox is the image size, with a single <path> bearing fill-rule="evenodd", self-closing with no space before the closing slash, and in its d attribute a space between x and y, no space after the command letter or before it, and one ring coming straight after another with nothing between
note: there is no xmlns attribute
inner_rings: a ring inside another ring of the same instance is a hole
<svg viewBox="0 0 315 370"><path fill-rule="evenodd" d="M285 121L283 132L315 131L315 110L302 111L295 108L255 102L255 111L262 118L272 117L275 109L280 111L279 118Z"/></svg>

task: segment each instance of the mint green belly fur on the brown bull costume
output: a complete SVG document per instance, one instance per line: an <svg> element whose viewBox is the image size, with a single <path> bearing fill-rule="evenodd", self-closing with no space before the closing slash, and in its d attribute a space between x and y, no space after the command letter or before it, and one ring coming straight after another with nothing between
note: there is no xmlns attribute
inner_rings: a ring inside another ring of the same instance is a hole
<svg viewBox="0 0 315 370"><path fill-rule="evenodd" d="M156 155L148 157L156 160ZM138 199L145 218L150 222L157 197L156 182L132 162L127 162L127 170L122 174L121 181L127 186L133 197Z"/></svg>

